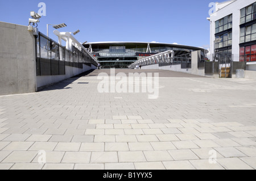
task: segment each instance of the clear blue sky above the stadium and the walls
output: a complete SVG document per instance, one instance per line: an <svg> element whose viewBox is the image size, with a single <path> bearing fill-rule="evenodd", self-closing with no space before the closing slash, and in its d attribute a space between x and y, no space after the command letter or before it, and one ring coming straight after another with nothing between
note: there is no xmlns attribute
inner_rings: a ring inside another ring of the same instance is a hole
<svg viewBox="0 0 256 181"><path fill-rule="evenodd" d="M0 0L0 21L28 25L30 11L46 3L46 16L39 31L46 34L46 24L65 23L60 31L76 31L80 42L156 41L195 47L209 45L209 21L212 0ZM49 28L49 36L57 40Z"/></svg>

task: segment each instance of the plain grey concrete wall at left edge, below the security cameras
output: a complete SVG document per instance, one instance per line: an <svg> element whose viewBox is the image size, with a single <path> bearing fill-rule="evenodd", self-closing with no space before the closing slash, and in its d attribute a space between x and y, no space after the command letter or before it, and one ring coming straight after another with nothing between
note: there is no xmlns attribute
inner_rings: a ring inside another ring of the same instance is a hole
<svg viewBox="0 0 256 181"><path fill-rule="evenodd" d="M26 26L0 22L0 95L35 92L35 38Z"/></svg>

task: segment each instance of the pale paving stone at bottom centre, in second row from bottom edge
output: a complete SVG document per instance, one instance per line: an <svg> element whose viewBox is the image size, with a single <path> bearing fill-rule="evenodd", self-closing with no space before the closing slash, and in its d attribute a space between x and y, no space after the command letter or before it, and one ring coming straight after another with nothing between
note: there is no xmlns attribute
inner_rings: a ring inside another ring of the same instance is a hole
<svg viewBox="0 0 256 181"><path fill-rule="evenodd" d="M119 162L146 162L142 151L118 151Z"/></svg>

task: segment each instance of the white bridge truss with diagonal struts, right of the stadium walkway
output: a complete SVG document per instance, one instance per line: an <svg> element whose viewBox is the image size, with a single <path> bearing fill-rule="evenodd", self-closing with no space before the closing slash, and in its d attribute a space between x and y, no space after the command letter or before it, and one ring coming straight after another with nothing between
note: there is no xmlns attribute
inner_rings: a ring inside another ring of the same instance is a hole
<svg viewBox="0 0 256 181"><path fill-rule="evenodd" d="M129 69L136 68L137 65L152 65L152 64L160 64L160 63L172 63L174 58L174 51L168 50L166 52L158 53L150 57L143 58L131 64Z"/></svg>

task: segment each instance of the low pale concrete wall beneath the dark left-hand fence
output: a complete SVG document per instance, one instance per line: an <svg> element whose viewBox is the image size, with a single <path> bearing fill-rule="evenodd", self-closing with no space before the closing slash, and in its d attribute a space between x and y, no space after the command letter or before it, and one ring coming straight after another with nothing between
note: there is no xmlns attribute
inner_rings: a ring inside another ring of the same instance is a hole
<svg viewBox="0 0 256 181"><path fill-rule="evenodd" d="M51 85L53 83L57 83L60 81L63 81L65 79L74 77L76 75L79 75L85 71L96 69L96 66L88 66L83 64L83 68L73 68L71 66L65 66L65 75L46 75L46 76L37 76L36 82L37 82L37 91L42 90L44 87Z"/></svg>

